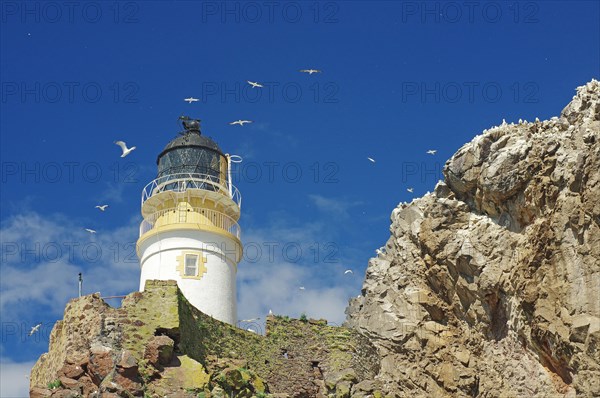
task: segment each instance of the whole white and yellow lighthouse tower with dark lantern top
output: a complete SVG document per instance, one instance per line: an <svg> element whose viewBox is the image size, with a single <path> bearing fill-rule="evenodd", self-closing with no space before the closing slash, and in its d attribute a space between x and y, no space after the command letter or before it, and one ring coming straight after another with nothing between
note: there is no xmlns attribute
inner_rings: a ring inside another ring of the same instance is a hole
<svg viewBox="0 0 600 398"><path fill-rule="evenodd" d="M235 324L242 198L232 157L202 135L200 120L180 120L183 131L158 155L157 177L142 190L140 291L148 280L175 280L194 307Z"/></svg>

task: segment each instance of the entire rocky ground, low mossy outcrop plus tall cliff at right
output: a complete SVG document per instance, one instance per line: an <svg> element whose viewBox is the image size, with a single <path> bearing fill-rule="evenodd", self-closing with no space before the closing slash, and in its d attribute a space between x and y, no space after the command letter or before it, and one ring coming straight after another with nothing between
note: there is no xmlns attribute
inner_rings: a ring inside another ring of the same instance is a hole
<svg viewBox="0 0 600 398"><path fill-rule="evenodd" d="M270 316L260 336L151 281L121 308L72 300L31 395L600 396L599 96L459 149L392 212L346 327Z"/></svg>

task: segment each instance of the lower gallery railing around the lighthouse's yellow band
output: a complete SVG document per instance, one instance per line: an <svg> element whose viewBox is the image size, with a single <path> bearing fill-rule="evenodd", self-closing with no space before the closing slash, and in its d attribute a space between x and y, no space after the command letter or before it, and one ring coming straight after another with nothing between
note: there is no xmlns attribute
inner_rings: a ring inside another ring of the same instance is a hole
<svg viewBox="0 0 600 398"><path fill-rule="evenodd" d="M152 230L161 217L164 217L165 224L212 226L227 231L238 239L241 237L240 226L233 218L227 214L203 207L169 208L157 211L142 221L140 224L140 236Z"/></svg>

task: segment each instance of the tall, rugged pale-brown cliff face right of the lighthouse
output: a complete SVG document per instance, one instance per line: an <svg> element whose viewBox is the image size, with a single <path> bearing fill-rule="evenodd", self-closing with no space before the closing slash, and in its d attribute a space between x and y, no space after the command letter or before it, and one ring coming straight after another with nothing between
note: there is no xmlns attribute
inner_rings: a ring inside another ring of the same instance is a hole
<svg viewBox="0 0 600 398"><path fill-rule="evenodd" d="M600 396L600 84L485 131L400 204L347 324L392 396Z"/></svg>

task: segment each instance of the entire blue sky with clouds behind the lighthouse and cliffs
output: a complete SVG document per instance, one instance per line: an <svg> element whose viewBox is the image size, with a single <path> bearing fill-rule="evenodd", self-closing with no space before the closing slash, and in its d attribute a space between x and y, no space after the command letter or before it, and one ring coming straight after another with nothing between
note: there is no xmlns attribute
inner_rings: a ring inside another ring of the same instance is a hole
<svg viewBox="0 0 600 398"><path fill-rule="evenodd" d="M181 114L244 159L240 319L341 323L399 202L598 78L598 2L466 3L2 1L0 395L27 395L78 272L85 293L137 289L140 192Z"/></svg>

